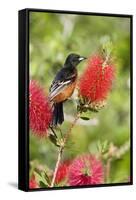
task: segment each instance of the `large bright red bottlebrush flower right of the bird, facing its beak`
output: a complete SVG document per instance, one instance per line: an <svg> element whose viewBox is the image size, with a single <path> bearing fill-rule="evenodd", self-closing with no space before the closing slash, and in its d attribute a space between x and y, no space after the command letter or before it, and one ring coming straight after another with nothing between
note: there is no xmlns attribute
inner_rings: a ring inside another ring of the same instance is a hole
<svg viewBox="0 0 136 200"><path fill-rule="evenodd" d="M115 75L112 64L107 64L101 56L92 56L79 82L80 95L89 102L105 100Z"/></svg>

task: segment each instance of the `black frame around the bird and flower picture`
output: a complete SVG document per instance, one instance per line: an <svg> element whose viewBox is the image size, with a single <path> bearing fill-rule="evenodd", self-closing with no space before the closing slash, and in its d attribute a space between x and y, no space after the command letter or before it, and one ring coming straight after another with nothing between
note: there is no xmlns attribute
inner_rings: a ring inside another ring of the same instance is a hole
<svg viewBox="0 0 136 200"><path fill-rule="evenodd" d="M76 187L53 187L29 189L29 14L30 12L46 12L46 13L62 13L92 16L108 16L130 18L130 133L131 133L131 155L130 155L130 181L128 183L111 183L91 186ZM18 188L23 191L40 191L40 190L58 190L58 189L74 189L74 188L92 188L105 186L123 186L133 184L133 15L126 14L110 14L110 13L93 13L80 11L63 11L63 10L46 10L27 8L19 11L19 120L18 120Z"/></svg>

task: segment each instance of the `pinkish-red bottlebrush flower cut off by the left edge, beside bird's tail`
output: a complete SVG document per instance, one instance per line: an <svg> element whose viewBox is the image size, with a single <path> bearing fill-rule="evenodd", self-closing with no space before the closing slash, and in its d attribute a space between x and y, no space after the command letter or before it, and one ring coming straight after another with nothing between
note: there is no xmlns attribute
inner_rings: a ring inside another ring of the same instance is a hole
<svg viewBox="0 0 136 200"><path fill-rule="evenodd" d="M46 136L52 119L52 111L43 89L35 82L29 87L29 122L30 128L37 136Z"/></svg>

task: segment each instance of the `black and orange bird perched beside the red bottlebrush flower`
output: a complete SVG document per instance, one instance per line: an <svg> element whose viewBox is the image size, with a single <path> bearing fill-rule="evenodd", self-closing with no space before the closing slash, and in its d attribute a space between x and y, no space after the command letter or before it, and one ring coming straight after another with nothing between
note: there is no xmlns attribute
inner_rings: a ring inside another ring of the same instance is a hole
<svg viewBox="0 0 136 200"><path fill-rule="evenodd" d="M49 100L53 102L53 119L51 126L62 124L64 121L63 102L74 92L77 82L76 66L86 57L70 54L65 60L63 67L56 74L49 93Z"/></svg>

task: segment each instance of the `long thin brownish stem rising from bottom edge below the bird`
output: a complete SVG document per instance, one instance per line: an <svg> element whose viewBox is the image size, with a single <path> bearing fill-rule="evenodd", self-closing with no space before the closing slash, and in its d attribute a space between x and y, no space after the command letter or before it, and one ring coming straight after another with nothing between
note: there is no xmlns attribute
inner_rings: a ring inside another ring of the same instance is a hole
<svg viewBox="0 0 136 200"><path fill-rule="evenodd" d="M61 161L61 158L62 158L62 154L63 154L63 149L64 149L65 144L67 142L67 139L68 139L73 127L75 126L77 120L79 119L79 117L80 117L80 113L77 113L73 123L71 124L69 130L65 134L65 137L64 137L64 140L62 142L62 145L59 147L58 158L57 158L57 162L56 162L56 165L55 165L55 170L54 170L54 173L53 173L53 178L52 178L50 187L54 186L56 175L57 175L57 171L58 171L58 167L59 167L59 164L60 164L60 161Z"/></svg>

